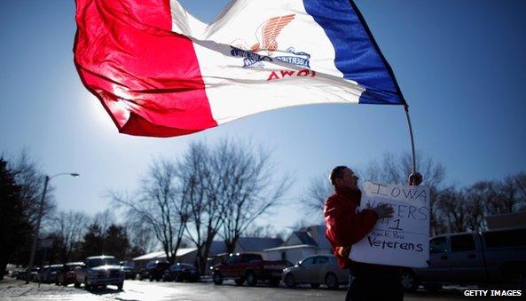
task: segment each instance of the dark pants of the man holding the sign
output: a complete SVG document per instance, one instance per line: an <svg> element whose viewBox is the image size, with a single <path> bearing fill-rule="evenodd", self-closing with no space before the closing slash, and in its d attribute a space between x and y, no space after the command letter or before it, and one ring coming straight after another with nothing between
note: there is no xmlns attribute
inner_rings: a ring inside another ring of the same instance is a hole
<svg viewBox="0 0 526 301"><path fill-rule="evenodd" d="M346 301L404 300L400 268L389 265L355 264L349 269Z"/></svg>

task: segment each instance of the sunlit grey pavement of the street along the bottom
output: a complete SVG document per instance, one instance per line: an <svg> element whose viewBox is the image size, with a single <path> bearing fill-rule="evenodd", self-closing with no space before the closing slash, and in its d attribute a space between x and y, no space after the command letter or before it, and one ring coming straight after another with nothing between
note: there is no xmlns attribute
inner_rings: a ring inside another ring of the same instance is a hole
<svg viewBox="0 0 526 301"><path fill-rule="evenodd" d="M326 288L310 289L308 286L287 289L283 286L247 287L236 286L233 281L224 281L216 286L209 281L198 283L125 281L124 288L114 286L90 291L54 284L25 284L10 278L0 282L2 300L343 300L346 288L330 290ZM451 300L465 299L461 289L445 289L438 293L417 291L405 294L405 300ZM492 298L495 299L495 298ZM502 298L499 298L502 299ZM508 298L516 299L516 298Z"/></svg>

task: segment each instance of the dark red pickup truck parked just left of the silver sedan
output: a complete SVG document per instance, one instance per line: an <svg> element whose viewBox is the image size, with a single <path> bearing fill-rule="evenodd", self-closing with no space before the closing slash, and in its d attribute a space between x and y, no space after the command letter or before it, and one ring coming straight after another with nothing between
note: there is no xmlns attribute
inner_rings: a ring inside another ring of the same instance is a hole
<svg viewBox="0 0 526 301"><path fill-rule="evenodd" d="M214 267L212 279L216 285L224 279L233 279L237 285L255 286L257 281L270 281L271 286L278 286L281 273L287 267L286 260L267 261L260 254L231 254L224 262Z"/></svg>

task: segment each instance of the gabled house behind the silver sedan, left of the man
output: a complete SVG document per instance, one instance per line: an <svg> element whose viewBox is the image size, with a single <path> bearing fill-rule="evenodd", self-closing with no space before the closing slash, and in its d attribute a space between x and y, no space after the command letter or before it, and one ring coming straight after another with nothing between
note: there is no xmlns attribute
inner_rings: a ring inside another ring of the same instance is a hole
<svg viewBox="0 0 526 301"><path fill-rule="evenodd" d="M283 245L263 251L267 260L288 260L296 263L316 254L331 254L331 245L325 237L326 226L306 226L294 231Z"/></svg>

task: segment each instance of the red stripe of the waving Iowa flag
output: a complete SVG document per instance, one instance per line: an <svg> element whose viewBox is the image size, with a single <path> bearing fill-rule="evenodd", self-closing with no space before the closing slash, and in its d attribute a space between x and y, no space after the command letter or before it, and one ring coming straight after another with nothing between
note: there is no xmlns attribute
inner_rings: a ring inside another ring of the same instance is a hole
<svg viewBox="0 0 526 301"><path fill-rule="evenodd" d="M119 131L168 137L217 125L169 0L77 0L75 64Z"/></svg>

